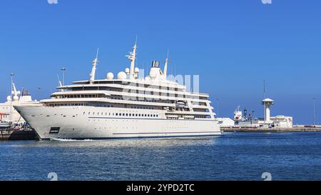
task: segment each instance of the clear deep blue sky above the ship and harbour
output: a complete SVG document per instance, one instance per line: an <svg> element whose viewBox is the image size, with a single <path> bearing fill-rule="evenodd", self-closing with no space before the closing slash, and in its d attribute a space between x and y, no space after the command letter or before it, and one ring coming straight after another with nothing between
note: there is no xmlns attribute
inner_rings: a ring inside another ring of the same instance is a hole
<svg viewBox="0 0 321 195"><path fill-rule="evenodd" d="M96 48L98 76L123 71L138 35L138 66L164 60L176 74L199 74L219 115L236 106L263 116L263 79L275 100L272 115L312 123L312 98L321 122L321 1L71 1L3 0L0 4L0 99L16 85L34 98L66 81L88 79ZM39 90L38 87L41 87Z"/></svg>

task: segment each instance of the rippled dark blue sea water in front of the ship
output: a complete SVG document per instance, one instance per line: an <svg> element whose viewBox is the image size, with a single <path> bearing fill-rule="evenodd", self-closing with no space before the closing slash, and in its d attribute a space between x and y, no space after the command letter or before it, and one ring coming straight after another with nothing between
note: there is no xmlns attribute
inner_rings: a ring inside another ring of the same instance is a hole
<svg viewBox="0 0 321 195"><path fill-rule="evenodd" d="M2 141L0 180L321 180L321 132Z"/></svg>

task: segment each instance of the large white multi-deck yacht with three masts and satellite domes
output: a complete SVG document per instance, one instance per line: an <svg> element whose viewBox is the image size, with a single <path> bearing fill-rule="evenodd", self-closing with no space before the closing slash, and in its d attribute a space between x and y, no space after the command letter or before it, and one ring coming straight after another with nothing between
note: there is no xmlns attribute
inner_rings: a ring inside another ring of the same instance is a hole
<svg viewBox="0 0 321 195"><path fill-rule="evenodd" d="M90 79L58 86L39 104L15 106L39 139L114 139L168 136L215 136L220 127L208 94L193 93L167 79L153 61L148 76L135 67L136 44L127 56L131 66L106 79L95 79L97 56Z"/></svg>

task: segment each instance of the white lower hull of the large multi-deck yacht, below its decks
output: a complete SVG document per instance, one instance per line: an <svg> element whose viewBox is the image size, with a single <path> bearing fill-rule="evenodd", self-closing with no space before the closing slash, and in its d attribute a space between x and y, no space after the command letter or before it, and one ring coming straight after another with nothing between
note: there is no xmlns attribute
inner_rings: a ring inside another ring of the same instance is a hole
<svg viewBox="0 0 321 195"><path fill-rule="evenodd" d="M220 135L220 127L213 119L172 120L161 119L161 117L146 119L136 116L109 115L109 113L139 113L137 109L91 106L73 108L16 106L16 109L35 129L39 139L43 140ZM150 112L156 113L156 111Z"/></svg>

